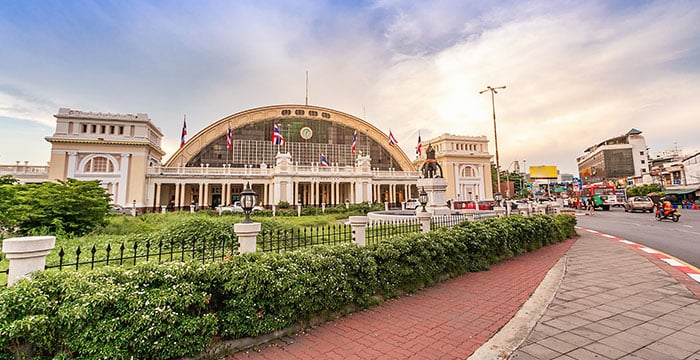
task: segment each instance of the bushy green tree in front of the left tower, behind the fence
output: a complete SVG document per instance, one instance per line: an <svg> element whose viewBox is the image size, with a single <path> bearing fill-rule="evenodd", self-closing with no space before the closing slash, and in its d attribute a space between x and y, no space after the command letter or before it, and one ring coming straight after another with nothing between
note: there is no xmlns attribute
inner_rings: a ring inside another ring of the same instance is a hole
<svg viewBox="0 0 700 360"><path fill-rule="evenodd" d="M105 223L110 196L99 180L19 185L13 214L27 234L89 233Z"/></svg>

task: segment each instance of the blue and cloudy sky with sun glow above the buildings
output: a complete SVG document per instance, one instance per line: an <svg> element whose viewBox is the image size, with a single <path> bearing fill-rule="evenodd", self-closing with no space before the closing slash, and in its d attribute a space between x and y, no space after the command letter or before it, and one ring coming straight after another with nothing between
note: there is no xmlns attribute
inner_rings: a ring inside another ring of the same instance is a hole
<svg viewBox="0 0 700 360"><path fill-rule="evenodd" d="M391 130L410 159L485 135L502 169L577 174L642 131L700 151L700 3L689 1L1 1L0 164L45 165L61 107L147 113L167 160L247 109L331 108ZM308 72L308 88L306 74Z"/></svg>

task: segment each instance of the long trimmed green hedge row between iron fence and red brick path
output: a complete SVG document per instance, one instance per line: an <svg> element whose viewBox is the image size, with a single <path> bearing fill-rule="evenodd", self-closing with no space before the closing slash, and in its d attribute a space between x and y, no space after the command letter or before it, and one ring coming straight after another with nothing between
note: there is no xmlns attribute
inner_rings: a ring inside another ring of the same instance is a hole
<svg viewBox="0 0 700 360"><path fill-rule="evenodd" d="M466 222L377 245L255 253L213 263L44 271L0 291L0 359L192 356L366 308L573 236L575 218Z"/></svg>

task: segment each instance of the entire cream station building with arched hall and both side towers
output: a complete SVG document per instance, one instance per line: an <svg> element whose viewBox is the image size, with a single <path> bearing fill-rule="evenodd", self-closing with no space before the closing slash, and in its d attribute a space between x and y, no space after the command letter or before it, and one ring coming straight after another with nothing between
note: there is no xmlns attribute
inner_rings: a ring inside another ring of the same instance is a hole
<svg viewBox="0 0 700 360"><path fill-rule="evenodd" d="M421 176L406 154L374 125L308 105L245 110L188 136L167 161L163 134L147 114L59 109L47 167L0 167L21 181L98 179L122 206L213 208L250 184L263 205L404 202ZM273 134L280 138L272 140ZM281 141L283 139L283 141ZM448 198L491 198L485 137L429 140L446 169Z"/></svg>

